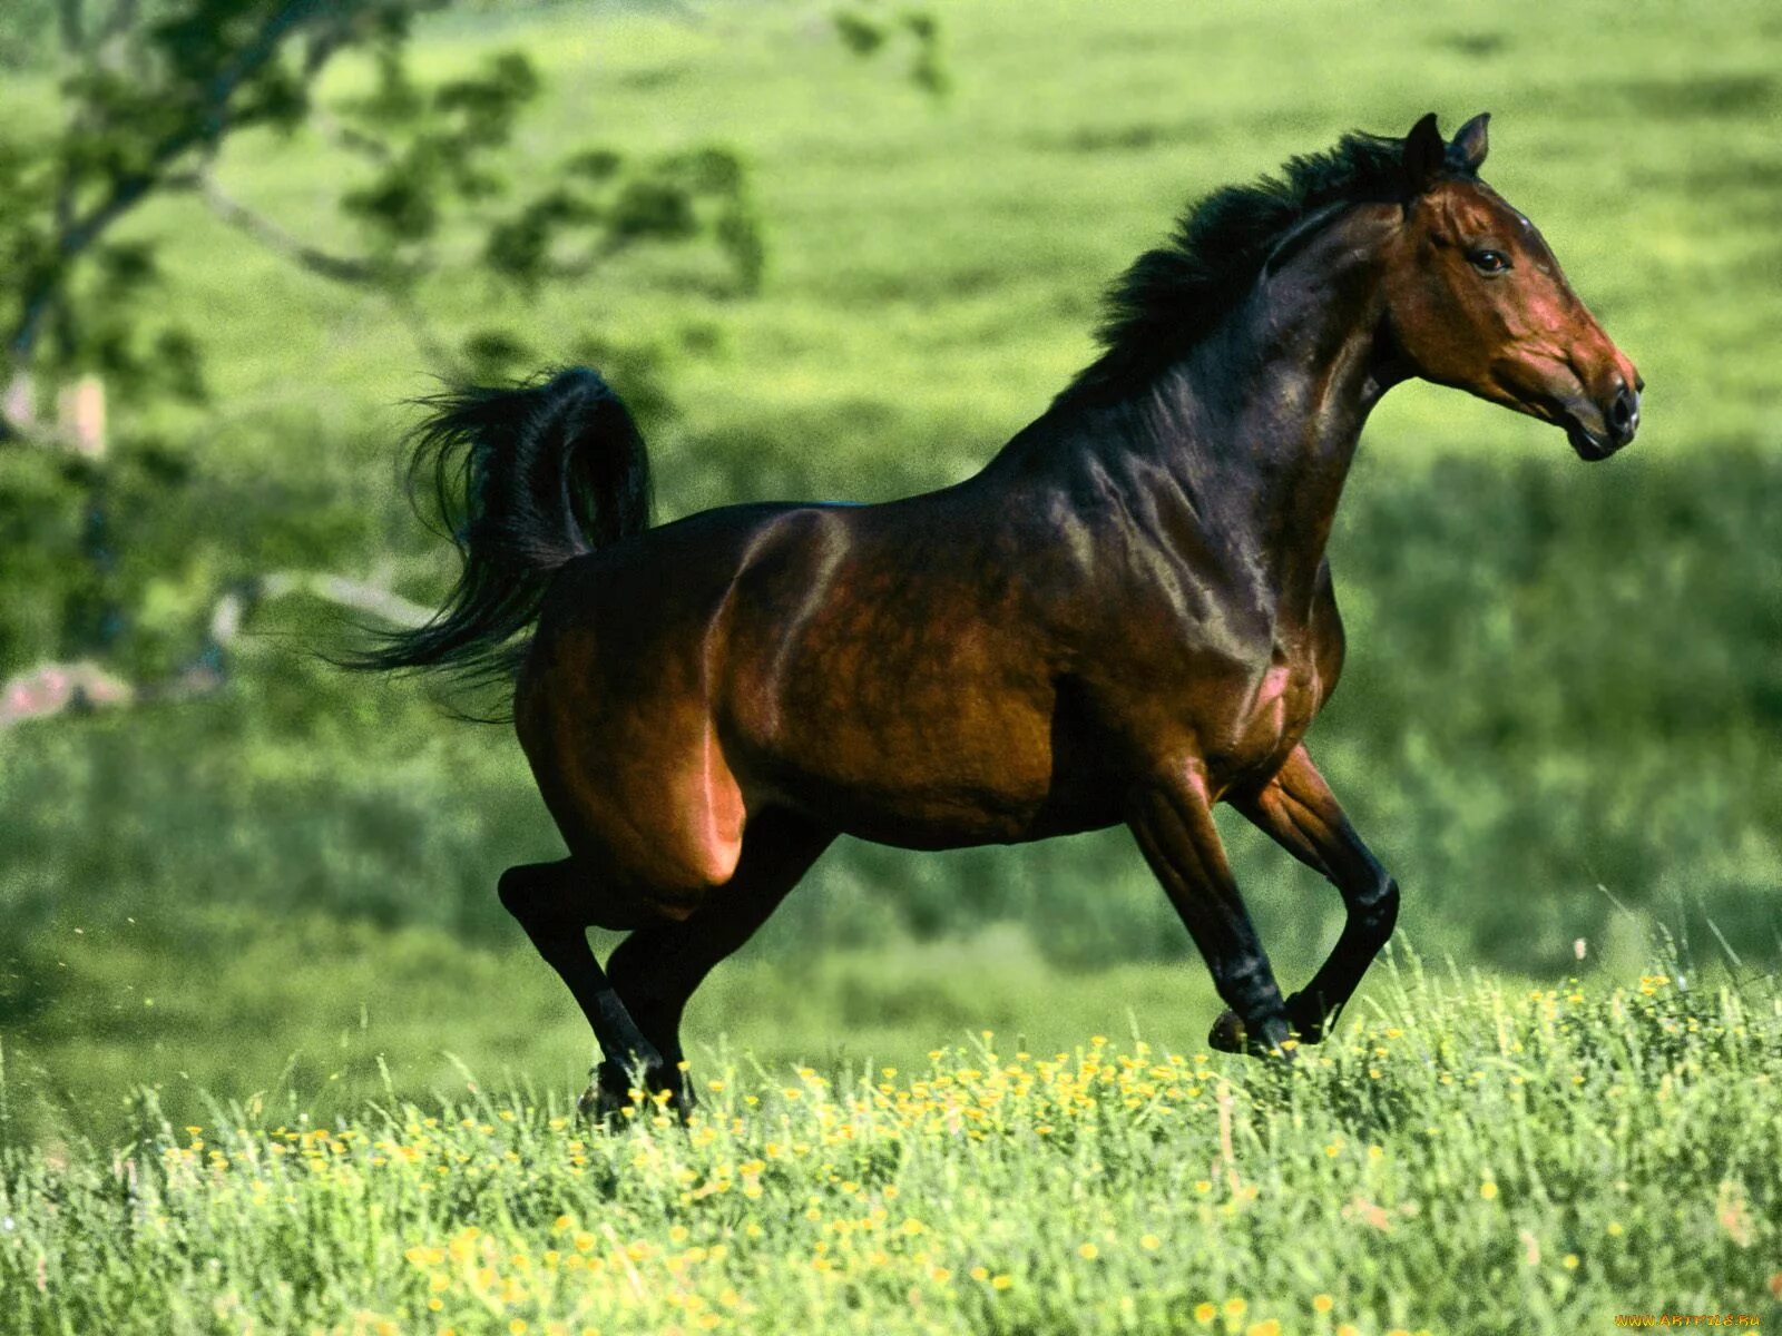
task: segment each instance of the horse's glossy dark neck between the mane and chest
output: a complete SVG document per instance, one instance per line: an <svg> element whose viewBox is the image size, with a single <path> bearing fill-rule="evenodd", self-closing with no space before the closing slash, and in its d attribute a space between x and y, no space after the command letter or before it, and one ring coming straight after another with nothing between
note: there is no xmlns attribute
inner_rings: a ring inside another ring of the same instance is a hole
<svg viewBox="0 0 1782 1336"><path fill-rule="evenodd" d="M1278 593L1310 593L1361 426L1394 381L1376 347L1377 289L1377 265L1353 246L1308 246L1108 410L1119 426L1098 442L1103 463L1148 506L1185 509L1198 547L1263 572Z"/></svg>

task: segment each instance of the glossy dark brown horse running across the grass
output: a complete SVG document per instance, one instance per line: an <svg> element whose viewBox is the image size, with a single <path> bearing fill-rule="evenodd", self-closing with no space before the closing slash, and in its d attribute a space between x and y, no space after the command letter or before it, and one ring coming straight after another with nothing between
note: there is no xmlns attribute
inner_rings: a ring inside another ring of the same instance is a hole
<svg viewBox="0 0 1782 1336"><path fill-rule="evenodd" d="M1422 376L1634 436L1639 390L1534 226L1452 143L1347 135L1221 191L1112 294L1105 353L989 465L880 506L754 504L649 527L629 415L590 371L437 403L463 574L378 668L517 673L568 857L501 901L604 1062L690 1099L679 1021L838 835L903 848L1126 823L1228 1008L1212 1044L1317 1042L1399 891L1304 745L1344 634L1326 540L1369 410ZM531 636L526 638L527 629ZM1226 866L1230 802L1347 923L1283 998ZM634 930L606 971L590 925Z"/></svg>

